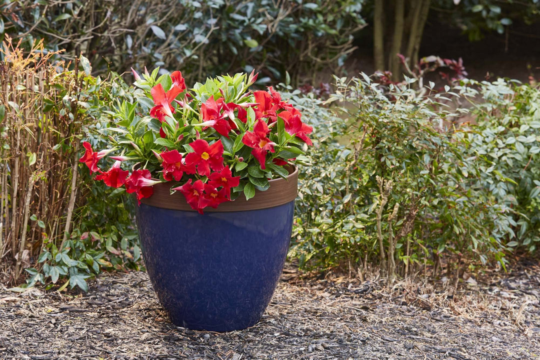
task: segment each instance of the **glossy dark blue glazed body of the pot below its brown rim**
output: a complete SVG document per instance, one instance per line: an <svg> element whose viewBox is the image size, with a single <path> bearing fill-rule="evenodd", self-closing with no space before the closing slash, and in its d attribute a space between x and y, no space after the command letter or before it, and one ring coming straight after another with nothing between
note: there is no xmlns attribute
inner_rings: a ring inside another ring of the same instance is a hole
<svg viewBox="0 0 540 360"><path fill-rule="evenodd" d="M294 201L204 215L141 203L137 226L146 269L171 321L208 331L257 323L281 276L293 213Z"/></svg>

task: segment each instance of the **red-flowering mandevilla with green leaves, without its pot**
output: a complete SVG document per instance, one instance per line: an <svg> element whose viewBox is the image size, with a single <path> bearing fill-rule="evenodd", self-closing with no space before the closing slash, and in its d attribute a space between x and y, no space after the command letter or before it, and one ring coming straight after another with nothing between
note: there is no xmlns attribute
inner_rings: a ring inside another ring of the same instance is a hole
<svg viewBox="0 0 540 360"><path fill-rule="evenodd" d="M286 178L289 164L305 159L313 128L272 87L249 91L257 74L207 79L188 90L180 71L159 78L158 71L143 78L133 71L140 90L136 101L110 112L116 126L104 133L118 133L109 137L111 148L95 152L84 143L80 161L98 173L96 180L125 186L139 202L152 195L153 185L172 182L171 192L181 192L202 214L241 192L251 199L255 189L268 189L268 179ZM114 165L102 171L99 159L117 151ZM131 173L122 161L136 163Z"/></svg>

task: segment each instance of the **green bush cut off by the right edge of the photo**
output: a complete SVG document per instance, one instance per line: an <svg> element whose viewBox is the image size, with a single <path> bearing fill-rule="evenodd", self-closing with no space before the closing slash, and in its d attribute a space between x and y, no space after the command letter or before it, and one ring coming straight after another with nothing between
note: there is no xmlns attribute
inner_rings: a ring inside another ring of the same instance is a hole
<svg viewBox="0 0 540 360"><path fill-rule="evenodd" d="M512 241L534 252L540 241L540 85L467 80L477 121L467 156L483 169L480 185L511 213Z"/></svg>

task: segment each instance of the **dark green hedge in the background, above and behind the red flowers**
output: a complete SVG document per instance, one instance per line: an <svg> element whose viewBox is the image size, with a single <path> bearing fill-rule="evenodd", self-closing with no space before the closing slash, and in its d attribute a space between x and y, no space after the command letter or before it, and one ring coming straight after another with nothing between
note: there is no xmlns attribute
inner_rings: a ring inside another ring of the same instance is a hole
<svg viewBox="0 0 540 360"><path fill-rule="evenodd" d="M180 69L188 83L250 72L246 67L280 78L285 70L296 76L340 64L363 26L361 6L357 0L0 0L0 40L2 33L29 43L43 38L53 50L65 47L65 58L84 52L100 71Z"/></svg>

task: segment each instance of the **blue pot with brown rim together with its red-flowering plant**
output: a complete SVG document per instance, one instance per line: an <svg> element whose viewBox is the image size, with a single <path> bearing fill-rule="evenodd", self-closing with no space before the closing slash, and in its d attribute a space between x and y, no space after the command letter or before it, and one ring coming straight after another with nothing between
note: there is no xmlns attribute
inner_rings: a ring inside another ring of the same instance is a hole
<svg viewBox="0 0 540 360"><path fill-rule="evenodd" d="M179 71L133 74L134 100L119 104L114 124L101 130L111 147L95 152L84 142L80 161L139 201L146 268L174 324L252 326L285 262L295 165L312 145L312 127L272 87L250 91L253 72L192 89ZM115 162L104 171L98 162L106 156Z"/></svg>

